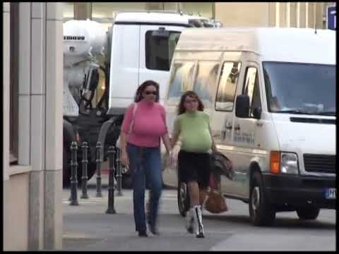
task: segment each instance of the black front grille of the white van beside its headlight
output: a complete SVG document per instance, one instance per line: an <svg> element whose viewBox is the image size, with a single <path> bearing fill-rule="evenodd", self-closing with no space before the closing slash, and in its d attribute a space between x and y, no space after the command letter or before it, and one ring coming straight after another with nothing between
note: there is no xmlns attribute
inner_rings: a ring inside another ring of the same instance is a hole
<svg viewBox="0 0 339 254"><path fill-rule="evenodd" d="M305 170L335 174L335 155L310 155L304 154Z"/></svg>

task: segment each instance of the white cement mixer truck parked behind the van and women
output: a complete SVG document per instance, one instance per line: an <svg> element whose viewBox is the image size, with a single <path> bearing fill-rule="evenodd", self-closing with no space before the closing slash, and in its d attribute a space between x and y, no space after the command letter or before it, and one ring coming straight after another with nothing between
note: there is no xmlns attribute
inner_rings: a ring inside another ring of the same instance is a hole
<svg viewBox="0 0 339 254"><path fill-rule="evenodd" d="M138 85L151 79L160 84L163 103L169 66L179 36L185 28L216 27L208 18L170 12L117 13L107 32L91 20L64 23L64 186L70 179L70 145L87 141L88 178L95 173L95 145L115 145L126 107ZM105 73L100 100L99 69ZM93 103L94 102L94 103ZM78 150L78 181L81 181ZM124 172L123 186L129 186Z"/></svg>

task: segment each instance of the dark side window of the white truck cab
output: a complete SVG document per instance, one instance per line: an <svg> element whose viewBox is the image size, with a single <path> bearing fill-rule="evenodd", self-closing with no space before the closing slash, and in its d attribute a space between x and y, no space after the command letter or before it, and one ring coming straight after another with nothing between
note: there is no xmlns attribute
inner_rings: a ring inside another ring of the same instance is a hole
<svg viewBox="0 0 339 254"><path fill-rule="evenodd" d="M149 30L145 34L146 68L169 71L181 32Z"/></svg>

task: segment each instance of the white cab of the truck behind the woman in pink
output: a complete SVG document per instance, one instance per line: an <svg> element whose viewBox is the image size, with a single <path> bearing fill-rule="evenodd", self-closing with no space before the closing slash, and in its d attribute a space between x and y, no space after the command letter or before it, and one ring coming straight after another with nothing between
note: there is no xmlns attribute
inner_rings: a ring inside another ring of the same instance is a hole
<svg viewBox="0 0 339 254"><path fill-rule="evenodd" d="M185 28L212 27L207 18L179 13L118 13L112 27L107 114L123 114L141 83L160 84L165 98L174 49Z"/></svg>

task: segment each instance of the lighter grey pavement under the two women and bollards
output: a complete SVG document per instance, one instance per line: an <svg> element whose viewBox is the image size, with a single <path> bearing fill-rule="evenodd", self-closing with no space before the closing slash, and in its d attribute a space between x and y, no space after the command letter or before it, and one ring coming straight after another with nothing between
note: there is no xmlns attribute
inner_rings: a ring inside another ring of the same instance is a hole
<svg viewBox="0 0 339 254"><path fill-rule="evenodd" d="M230 236L227 232L216 232L213 238L198 241L187 234L184 218L177 210L177 191L164 190L159 211L160 236L149 233L148 238L138 237L133 219L133 192L126 189L122 192L123 196L114 197L117 213L105 214L108 200L105 184L102 198L95 197L96 189L92 184L88 190L90 198L78 198L78 206L69 205L70 190L64 189L62 250L208 250Z"/></svg>

